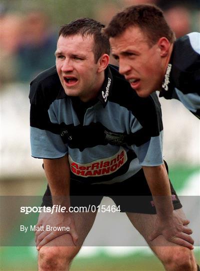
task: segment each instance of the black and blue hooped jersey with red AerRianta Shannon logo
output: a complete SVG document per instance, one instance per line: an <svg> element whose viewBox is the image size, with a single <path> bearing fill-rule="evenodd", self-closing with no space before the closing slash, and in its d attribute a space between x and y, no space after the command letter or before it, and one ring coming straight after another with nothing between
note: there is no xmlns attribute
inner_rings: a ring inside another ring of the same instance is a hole
<svg viewBox="0 0 200 271"><path fill-rule="evenodd" d="M71 179L111 184L163 163L156 94L138 97L113 65L95 101L67 96L55 66L30 83L29 98L32 157L68 154Z"/></svg>

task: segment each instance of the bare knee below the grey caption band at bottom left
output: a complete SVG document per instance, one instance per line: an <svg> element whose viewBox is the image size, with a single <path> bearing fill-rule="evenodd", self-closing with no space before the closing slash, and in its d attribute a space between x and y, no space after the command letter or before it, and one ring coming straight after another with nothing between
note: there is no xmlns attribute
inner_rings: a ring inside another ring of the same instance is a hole
<svg viewBox="0 0 200 271"><path fill-rule="evenodd" d="M66 270L77 252L74 247L43 246L38 253L38 270Z"/></svg>

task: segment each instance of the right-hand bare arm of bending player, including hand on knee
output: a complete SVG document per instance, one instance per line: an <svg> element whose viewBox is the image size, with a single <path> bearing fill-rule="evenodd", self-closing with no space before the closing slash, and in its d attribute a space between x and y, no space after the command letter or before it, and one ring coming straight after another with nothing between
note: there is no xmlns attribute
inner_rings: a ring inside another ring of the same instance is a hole
<svg viewBox="0 0 200 271"><path fill-rule="evenodd" d="M152 240L162 234L166 240L192 249L193 239L189 236L192 231L185 226L189 221L183 220L173 211L170 185L165 165L143 167L143 171L157 213L156 225L149 238Z"/></svg>

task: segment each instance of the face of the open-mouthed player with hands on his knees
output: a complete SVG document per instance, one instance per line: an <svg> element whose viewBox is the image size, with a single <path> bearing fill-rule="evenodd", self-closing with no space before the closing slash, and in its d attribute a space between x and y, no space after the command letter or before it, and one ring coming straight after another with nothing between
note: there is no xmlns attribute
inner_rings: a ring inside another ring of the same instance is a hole
<svg viewBox="0 0 200 271"><path fill-rule="evenodd" d="M82 101L97 93L97 64L94 61L93 38L73 35L60 36L55 51L56 70L68 96L79 96Z"/></svg>

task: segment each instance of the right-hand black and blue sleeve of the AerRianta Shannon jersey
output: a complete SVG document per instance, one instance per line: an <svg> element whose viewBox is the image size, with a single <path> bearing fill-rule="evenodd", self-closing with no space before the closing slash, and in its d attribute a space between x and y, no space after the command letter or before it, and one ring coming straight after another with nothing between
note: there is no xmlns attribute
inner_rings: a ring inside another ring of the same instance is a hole
<svg viewBox="0 0 200 271"><path fill-rule="evenodd" d="M130 148L135 152L140 166L163 164L163 125L161 107L156 94L142 101L136 118L131 122Z"/></svg>

